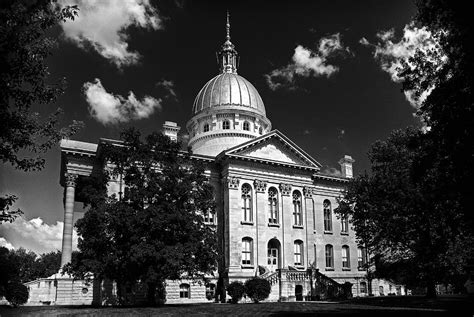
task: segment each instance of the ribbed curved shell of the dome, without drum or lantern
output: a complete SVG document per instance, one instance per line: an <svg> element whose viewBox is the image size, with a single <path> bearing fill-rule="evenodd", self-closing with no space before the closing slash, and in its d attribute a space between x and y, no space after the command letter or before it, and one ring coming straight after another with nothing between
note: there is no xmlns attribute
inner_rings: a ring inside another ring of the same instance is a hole
<svg viewBox="0 0 474 317"><path fill-rule="evenodd" d="M257 89L234 72L225 72L209 80L194 100L193 113L220 106L240 106L265 116L265 106Z"/></svg>

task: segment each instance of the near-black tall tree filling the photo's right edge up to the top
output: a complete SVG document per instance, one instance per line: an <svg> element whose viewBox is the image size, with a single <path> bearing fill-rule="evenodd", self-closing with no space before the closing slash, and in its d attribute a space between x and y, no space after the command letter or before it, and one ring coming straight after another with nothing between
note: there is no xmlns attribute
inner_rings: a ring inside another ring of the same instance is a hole
<svg viewBox="0 0 474 317"><path fill-rule="evenodd" d="M440 204L455 211L459 232L455 252L474 264L474 32L469 4L462 1L417 1L415 22L436 38L437 49L418 51L400 72L404 89L421 95L432 89L418 114L429 127L421 136L416 181L431 175Z"/></svg>

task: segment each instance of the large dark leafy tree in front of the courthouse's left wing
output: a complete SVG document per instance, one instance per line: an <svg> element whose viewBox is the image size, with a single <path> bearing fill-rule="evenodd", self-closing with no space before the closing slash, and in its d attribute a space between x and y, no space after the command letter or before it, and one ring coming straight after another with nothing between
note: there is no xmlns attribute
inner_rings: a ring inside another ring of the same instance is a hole
<svg viewBox="0 0 474 317"><path fill-rule="evenodd" d="M119 197L95 196L78 220L80 252L70 270L121 286L140 281L154 304L166 279L204 278L216 269L215 231L203 219L203 212L215 210L213 188L203 167L161 133L141 141L130 129L122 140L105 146L103 160L108 178L123 179L126 190Z"/></svg>

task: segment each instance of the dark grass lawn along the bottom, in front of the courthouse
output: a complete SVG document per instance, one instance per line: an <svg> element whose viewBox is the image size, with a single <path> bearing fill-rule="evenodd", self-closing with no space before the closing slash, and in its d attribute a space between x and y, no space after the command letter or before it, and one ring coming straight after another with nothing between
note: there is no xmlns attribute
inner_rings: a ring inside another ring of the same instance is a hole
<svg viewBox="0 0 474 317"><path fill-rule="evenodd" d="M354 298L343 302L188 304L163 307L0 307L0 316L474 316L466 297Z"/></svg>

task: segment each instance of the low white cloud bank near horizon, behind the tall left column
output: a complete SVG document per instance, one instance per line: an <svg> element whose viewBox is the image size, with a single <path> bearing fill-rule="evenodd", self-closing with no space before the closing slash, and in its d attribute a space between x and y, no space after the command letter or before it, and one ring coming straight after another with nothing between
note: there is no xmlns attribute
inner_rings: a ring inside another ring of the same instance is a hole
<svg viewBox="0 0 474 317"><path fill-rule="evenodd" d="M23 247L37 254L61 250L63 222L49 225L41 218L26 220L18 217L12 223L4 222L0 226L0 245L5 244L15 249ZM73 232L73 249L77 250L77 232ZM7 248L8 248L7 246Z"/></svg>

